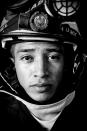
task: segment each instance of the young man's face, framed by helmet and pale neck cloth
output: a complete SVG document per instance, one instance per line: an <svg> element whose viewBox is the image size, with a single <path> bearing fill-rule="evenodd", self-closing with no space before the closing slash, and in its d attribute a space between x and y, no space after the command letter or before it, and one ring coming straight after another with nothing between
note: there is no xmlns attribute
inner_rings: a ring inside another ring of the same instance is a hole
<svg viewBox="0 0 87 131"><path fill-rule="evenodd" d="M49 42L24 42L13 46L20 85L35 101L46 102L56 93L64 68L60 46Z"/></svg>

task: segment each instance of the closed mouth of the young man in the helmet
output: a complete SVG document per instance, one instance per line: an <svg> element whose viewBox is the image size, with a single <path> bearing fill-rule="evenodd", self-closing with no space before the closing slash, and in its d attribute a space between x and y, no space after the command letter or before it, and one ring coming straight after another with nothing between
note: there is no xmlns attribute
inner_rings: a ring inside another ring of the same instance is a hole
<svg viewBox="0 0 87 131"><path fill-rule="evenodd" d="M51 89L52 84L41 83L41 84L32 85L32 87L34 87L37 92L43 93L43 92L48 92Z"/></svg>

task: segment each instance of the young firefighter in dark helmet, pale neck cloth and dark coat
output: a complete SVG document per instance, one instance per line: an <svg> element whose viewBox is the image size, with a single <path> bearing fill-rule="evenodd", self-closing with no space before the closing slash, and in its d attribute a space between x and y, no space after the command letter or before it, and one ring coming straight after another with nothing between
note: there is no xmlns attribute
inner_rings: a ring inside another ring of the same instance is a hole
<svg viewBox="0 0 87 131"><path fill-rule="evenodd" d="M0 32L1 129L78 129L79 114L65 110L75 97L82 58L77 24L59 22L42 2L25 13L7 11Z"/></svg>

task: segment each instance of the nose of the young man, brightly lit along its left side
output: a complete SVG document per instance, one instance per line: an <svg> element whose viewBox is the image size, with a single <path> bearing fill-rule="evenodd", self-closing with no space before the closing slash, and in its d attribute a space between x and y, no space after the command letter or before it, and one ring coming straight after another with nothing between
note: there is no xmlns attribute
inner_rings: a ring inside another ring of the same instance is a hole
<svg viewBox="0 0 87 131"><path fill-rule="evenodd" d="M44 78L48 76L48 62L45 58L39 57L36 62L35 77Z"/></svg>

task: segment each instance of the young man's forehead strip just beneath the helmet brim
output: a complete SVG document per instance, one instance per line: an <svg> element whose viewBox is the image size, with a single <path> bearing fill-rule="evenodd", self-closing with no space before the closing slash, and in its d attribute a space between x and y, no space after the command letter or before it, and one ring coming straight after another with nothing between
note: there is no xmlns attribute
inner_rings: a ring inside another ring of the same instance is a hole
<svg viewBox="0 0 87 131"><path fill-rule="evenodd" d="M60 49L61 46L58 43L53 42L22 42L15 44L14 46L15 53L20 53L24 51L46 51L51 49Z"/></svg>

